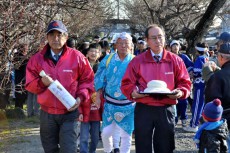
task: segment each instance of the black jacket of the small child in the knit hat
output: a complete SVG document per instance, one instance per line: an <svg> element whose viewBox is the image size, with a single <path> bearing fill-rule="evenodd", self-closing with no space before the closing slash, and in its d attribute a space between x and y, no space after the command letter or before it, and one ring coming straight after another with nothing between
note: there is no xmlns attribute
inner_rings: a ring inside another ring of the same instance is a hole
<svg viewBox="0 0 230 153"><path fill-rule="evenodd" d="M228 127L226 120L216 129L203 130L200 137L199 153L227 153L227 136Z"/></svg>

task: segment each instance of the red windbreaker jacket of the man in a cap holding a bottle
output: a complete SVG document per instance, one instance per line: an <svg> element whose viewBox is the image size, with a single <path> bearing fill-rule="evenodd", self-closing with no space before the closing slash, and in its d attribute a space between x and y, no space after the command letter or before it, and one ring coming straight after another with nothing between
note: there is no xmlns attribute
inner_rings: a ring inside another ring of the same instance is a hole
<svg viewBox="0 0 230 153"><path fill-rule="evenodd" d="M48 90L39 73L44 70L53 80L58 80L74 97L81 102L88 101L94 91L94 73L87 58L79 51L64 45L63 52L55 65L49 57L50 47L32 56L26 68L26 89L37 94L41 109L50 114L65 114L65 106Z"/></svg>

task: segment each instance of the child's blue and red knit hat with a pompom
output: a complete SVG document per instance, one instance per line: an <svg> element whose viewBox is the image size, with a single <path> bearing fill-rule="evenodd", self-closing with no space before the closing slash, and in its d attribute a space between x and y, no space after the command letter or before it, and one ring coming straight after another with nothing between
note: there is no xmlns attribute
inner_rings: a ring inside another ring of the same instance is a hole
<svg viewBox="0 0 230 153"><path fill-rule="evenodd" d="M215 99L204 106L202 116L209 122L219 121L222 117L223 107L221 101Z"/></svg>

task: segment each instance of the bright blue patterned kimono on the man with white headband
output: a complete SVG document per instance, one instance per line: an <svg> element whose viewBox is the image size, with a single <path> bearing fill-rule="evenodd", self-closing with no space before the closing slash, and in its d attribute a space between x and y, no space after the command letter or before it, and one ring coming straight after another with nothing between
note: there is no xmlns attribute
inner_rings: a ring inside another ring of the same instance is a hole
<svg viewBox="0 0 230 153"><path fill-rule="evenodd" d="M126 71L129 62L133 56L128 54L123 61L120 60L115 53L109 64L106 66L106 61L109 58L107 55L99 64L97 73L95 74L94 84L96 91L104 90L104 94L111 99L117 101L128 101L121 92L121 80ZM103 111L102 129L112 122L116 122L128 134L132 134L134 129L134 108L135 103L128 105L114 105L106 100ZM122 117L122 120L117 120L116 115Z"/></svg>

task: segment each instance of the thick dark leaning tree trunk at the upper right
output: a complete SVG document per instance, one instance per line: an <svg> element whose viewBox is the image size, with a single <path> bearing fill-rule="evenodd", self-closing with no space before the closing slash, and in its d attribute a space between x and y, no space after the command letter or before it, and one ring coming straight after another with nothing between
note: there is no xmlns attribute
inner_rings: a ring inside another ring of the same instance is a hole
<svg viewBox="0 0 230 153"><path fill-rule="evenodd" d="M183 30L183 34L188 43L188 53L194 54L194 47L196 43L202 40L202 37L207 32L207 29L212 25L215 15L221 7L223 7L226 1L227 0L212 0L195 29L190 31L188 31L188 29Z"/></svg>

